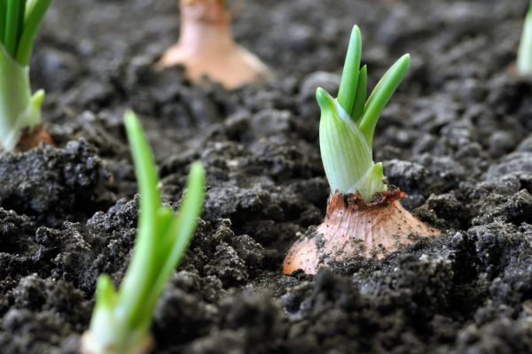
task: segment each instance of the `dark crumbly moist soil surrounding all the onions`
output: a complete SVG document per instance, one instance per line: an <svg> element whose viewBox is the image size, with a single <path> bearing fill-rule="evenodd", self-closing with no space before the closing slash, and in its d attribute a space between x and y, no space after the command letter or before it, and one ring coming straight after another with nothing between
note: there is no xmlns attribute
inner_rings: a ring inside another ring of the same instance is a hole
<svg viewBox="0 0 532 354"><path fill-rule="evenodd" d="M226 91L153 64L176 0L56 0L32 58L56 147L0 154L0 351L75 353L101 273L137 232L122 123L141 117L176 208L207 170L192 244L160 296L156 353L532 352L532 81L514 75L528 0L246 0L237 41L275 80ZM354 24L372 89L412 65L373 157L442 235L382 259L283 274L325 218L317 87L336 95Z"/></svg>

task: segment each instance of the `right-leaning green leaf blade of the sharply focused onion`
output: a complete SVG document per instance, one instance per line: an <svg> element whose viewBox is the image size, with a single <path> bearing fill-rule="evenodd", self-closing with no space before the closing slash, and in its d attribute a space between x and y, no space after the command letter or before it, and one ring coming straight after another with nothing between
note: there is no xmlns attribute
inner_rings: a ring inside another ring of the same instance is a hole
<svg viewBox="0 0 532 354"><path fill-rule="evenodd" d="M384 111L386 104L395 92L395 89L403 81L404 76L408 73L411 65L409 54L399 58L395 64L389 68L387 73L380 79L379 83L372 92L370 98L365 104L364 115L360 120L358 127L364 134L366 141L370 146L373 142L373 133L377 126L380 114Z"/></svg>

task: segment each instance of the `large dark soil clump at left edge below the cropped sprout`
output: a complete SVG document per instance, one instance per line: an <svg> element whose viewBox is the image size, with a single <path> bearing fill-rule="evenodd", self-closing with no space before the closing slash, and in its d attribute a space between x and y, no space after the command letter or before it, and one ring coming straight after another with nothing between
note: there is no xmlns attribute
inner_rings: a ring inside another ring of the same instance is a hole
<svg viewBox="0 0 532 354"><path fill-rule="evenodd" d="M44 144L27 153L4 152L0 205L59 227L63 218L86 219L108 208L113 202L104 187L109 178L97 150L85 140L68 142L64 150Z"/></svg>

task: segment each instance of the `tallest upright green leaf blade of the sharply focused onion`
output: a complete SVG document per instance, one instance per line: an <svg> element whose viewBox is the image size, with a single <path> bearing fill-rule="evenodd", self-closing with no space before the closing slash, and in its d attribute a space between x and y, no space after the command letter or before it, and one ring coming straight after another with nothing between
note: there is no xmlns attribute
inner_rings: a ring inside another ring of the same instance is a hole
<svg viewBox="0 0 532 354"><path fill-rule="evenodd" d="M356 99L356 87L358 85L358 72L360 70L360 58L362 56L362 35L358 26L353 27L349 40L348 54L341 75L340 89L338 91L338 103L351 115Z"/></svg>

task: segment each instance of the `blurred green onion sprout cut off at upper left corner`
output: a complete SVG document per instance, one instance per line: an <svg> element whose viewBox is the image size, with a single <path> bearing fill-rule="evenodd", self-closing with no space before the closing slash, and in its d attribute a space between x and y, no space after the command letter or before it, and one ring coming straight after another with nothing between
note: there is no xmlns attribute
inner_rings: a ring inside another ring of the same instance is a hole
<svg viewBox="0 0 532 354"><path fill-rule="evenodd" d="M42 89L31 95L29 58L53 0L0 0L0 148L29 150L51 142L41 125ZM24 135L23 129L27 128Z"/></svg>

